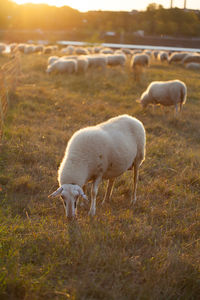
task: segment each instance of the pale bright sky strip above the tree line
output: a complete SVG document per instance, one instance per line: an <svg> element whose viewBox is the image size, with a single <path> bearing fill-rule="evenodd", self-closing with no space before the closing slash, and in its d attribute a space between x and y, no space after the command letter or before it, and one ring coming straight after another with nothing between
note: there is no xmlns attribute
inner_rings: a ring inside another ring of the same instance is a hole
<svg viewBox="0 0 200 300"><path fill-rule="evenodd" d="M150 3L161 4L164 8L170 7L170 0L13 0L18 4L46 3L55 6L68 5L79 11L88 10L121 10L131 11L132 9L145 10ZM200 0L186 0L186 7L191 9L200 9ZM173 7L183 8L184 0L173 0Z"/></svg>

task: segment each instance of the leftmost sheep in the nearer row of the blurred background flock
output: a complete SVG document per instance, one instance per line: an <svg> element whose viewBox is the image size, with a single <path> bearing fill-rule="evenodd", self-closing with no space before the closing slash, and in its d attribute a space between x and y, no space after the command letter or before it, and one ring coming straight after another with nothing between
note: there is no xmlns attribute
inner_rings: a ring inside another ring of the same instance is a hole
<svg viewBox="0 0 200 300"><path fill-rule="evenodd" d="M48 65L46 72L51 73L53 71L57 71L60 73L74 73L77 72L77 62L74 59L65 60L65 59L58 59L52 65Z"/></svg>

